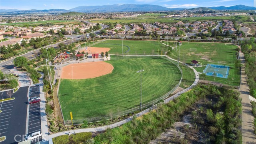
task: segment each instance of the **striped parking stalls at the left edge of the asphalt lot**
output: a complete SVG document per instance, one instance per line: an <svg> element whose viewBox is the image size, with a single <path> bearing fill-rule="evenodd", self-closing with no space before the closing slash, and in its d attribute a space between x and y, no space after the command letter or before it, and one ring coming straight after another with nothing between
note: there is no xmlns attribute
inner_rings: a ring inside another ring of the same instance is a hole
<svg viewBox="0 0 256 144"><path fill-rule="evenodd" d="M13 100L0 103L0 109L2 110L0 113L0 136L5 136L8 132L13 106Z"/></svg>

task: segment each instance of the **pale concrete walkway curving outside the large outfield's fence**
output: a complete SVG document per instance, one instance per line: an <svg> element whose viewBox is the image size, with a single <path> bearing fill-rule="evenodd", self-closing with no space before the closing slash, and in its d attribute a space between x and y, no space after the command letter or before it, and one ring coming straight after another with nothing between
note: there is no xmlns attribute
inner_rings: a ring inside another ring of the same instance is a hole
<svg viewBox="0 0 256 144"><path fill-rule="evenodd" d="M171 59L171 60L174 60L168 56L166 56L167 58ZM174 60L176 62L178 62L177 60ZM180 62L181 64L183 64L183 62ZM188 66L188 65L187 65ZM167 103L169 102L170 100L173 100L174 98L177 98L178 96L180 96L180 94L184 93L184 92L187 92L188 90L192 89L194 86L196 86L198 84L198 81L199 81L199 74L198 72L192 67L192 66L188 66L189 68L191 68L194 72L195 72L195 81L194 83L189 87L189 88L186 88L185 90L182 90L181 92L175 94L174 96L171 96L170 98L164 100L164 103ZM155 106L152 106L151 108L148 108L138 114L136 114L136 116L142 116L143 114L146 114L147 112L149 112L150 110L156 108L157 105ZM47 134L44 134L42 132L42 134L44 135L44 142L41 142L42 144L51 144L52 142L52 138L55 138L57 136L62 136L62 135L65 135L65 134L76 134L76 133L80 133L80 132L99 132L99 131L103 131L103 130L106 130L106 128L115 128L115 127L118 127L118 126L121 126L122 124L125 124L126 122L129 122L132 120L132 117L126 119L126 120L122 120L120 122L117 122L115 124L111 124L111 125L108 125L108 126L102 126L102 127L98 127L98 128L84 128L84 129L78 129L78 130L70 130L70 131L64 131L64 132L58 132L56 134L51 134L51 135L47 135Z"/></svg>

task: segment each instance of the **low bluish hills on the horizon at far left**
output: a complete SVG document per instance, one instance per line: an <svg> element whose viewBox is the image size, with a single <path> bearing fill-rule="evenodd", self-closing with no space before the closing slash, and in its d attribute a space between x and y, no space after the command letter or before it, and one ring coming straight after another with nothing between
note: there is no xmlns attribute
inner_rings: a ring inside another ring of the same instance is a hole
<svg viewBox="0 0 256 144"><path fill-rule="evenodd" d="M70 12L69 10L64 9L51 9L51 10L19 10L13 12L2 12L0 11L0 15L4 14L60 14L64 12Z"/></svg>

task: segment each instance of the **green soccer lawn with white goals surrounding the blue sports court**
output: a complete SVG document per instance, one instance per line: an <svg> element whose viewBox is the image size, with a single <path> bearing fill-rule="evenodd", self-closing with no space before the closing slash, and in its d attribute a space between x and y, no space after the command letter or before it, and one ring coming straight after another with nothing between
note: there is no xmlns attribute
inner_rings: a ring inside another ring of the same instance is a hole
<svg viewBox="0 0 256 144"><path fill-rule="evenodd" d="M179 47L178 47L179 48ZM196 52L190 51L190 48L196 48ZM216 82L228 84L231 86L240 85L240 70L235 68L234 60L236 60L237 46L225 46L221 43L206 42L182 42L180 46L180 61L190 64L192 60L197 60L203 65L219 64L230 66L228 80L226 78L215 78ZM174 49L172 58L178 60L179 49ZM196 68L198 72L202 72L202 68ZM214 77L206 76L206 80L214 81Z"/></svg>

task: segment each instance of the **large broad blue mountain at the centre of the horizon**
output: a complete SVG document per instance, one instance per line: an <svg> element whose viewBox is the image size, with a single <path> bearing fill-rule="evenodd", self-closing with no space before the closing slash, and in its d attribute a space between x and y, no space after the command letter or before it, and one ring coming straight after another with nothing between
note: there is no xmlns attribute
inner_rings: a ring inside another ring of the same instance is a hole
<svg viewBox="0 0 256 144"><path fill-rule="evenodd" d="M168 11L174 10L163 6L151 5L151 4L114 4L105 6L78 6L70 9L74 12L146 12L146 11ZM175 10L180 10L175 9Z"/></svg>

